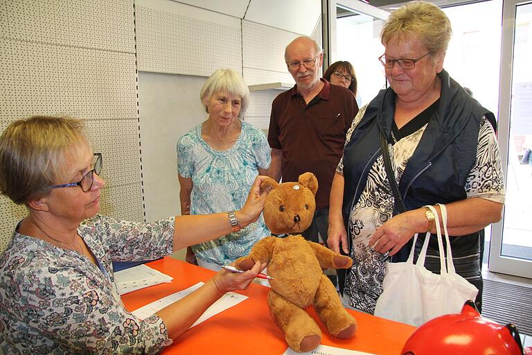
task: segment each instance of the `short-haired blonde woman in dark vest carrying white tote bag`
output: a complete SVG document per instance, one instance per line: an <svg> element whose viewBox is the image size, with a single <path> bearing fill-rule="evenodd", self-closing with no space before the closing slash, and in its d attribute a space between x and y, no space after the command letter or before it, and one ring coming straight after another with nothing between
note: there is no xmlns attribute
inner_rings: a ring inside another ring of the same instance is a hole
<svg viewBox="0 0 532 355"><path fill-rule="evenodd" d="M385 50L379 59L390 87L358 112L330 193L328 244L353 258L341 290L355 309L373 313L387 261L405 261L414 234L420 236L417 255L425 232L436 233L434 215L424 207L436 203L447 207L456 271L479 289L481 305L479 231L501 218L504 181L487 121L493 114L443 69L450 37L445 13L423 1L392 12L382 28ZM398 184L403 213L390 181ZM439 272L434 255L432 237L425 266Z"/></svg>

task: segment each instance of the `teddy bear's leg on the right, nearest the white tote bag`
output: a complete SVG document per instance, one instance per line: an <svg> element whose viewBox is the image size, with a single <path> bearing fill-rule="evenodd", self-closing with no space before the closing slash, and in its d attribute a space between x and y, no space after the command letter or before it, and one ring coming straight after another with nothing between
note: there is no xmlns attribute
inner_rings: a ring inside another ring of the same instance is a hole
<svg viewBox="0 0 532 355"><path fill-rule="evenodd" d="M314 309L332 336L346 339L355 335L357 321L344 309L335 286L326 275L321 275Z"/></svg>

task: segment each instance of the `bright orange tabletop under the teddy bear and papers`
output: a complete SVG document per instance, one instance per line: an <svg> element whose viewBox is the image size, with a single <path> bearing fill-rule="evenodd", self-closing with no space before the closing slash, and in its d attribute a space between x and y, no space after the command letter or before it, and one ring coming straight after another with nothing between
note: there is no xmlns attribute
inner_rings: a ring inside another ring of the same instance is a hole
<svg viewBox="0 0 532 355"><path fill-rule="evenodd" d="M174 279L171 284L159 284L123 295L125 307L130 311L197 282L206 282L214 274L211 270L170 257L147 265ZM283 354L287 345L283 333L269 316L266 301L268 291L269 288L255 283L245 291L236 291L249 298L188 329L163 354ZM407 324L356 311L349 312L357 319L358 331L355 337L342 340L330 336L314 310L310 310L312 318L321 327L321 344L373 354L397 355L415 330Z"/></svg>

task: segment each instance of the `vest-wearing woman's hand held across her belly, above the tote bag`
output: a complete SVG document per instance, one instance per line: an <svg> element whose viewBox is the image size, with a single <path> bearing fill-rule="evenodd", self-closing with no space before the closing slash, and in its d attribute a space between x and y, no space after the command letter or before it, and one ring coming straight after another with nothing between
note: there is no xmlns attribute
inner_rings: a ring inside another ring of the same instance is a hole
<svg viewBox="0 0 532 355"><path fill-rule="evenodd" d="M377 228L369 240L369 246L382 254L387 252L390 255L396 254L416 234L418 226L414 221L420 218L417 214L418 209L414 209L393 216L393 218ZM425 218L424 214L423 218Z"/></svg>

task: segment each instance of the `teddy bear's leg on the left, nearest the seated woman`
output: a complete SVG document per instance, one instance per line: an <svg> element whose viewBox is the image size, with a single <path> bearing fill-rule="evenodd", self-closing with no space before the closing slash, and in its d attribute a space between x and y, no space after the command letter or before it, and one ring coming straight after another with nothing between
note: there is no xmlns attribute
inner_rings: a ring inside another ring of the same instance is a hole
<svg viewBox="0 0 532 355"><path fill-rule="evenodd" d="M269 311L295 352L310 352L321 341L321 330L308 313L275 291L268 294Z"/></svg>

